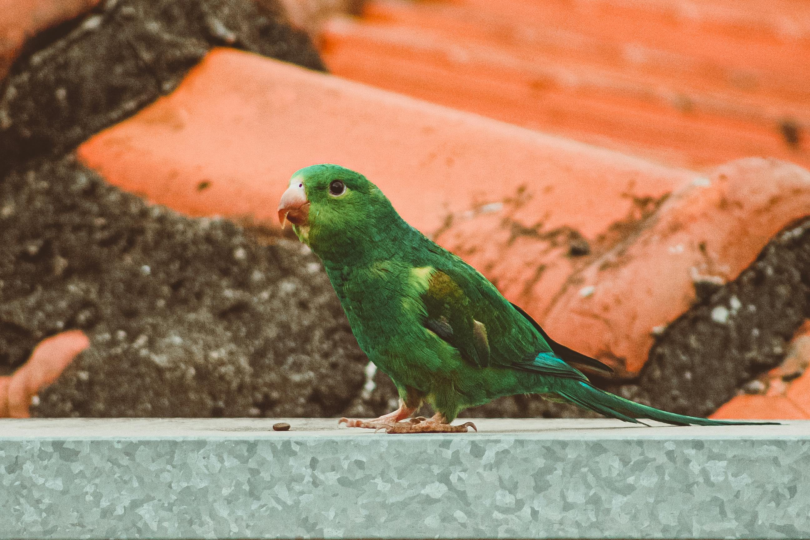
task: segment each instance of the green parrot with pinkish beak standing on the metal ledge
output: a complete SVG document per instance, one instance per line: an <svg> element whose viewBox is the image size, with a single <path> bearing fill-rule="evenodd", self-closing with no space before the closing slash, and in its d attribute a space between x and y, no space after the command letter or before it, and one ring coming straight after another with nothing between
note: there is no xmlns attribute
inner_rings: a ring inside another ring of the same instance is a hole
<svg viewBox="0 0 810 540"><path fill-rule="evenodd" d="M394 381L399 409L340 419L389 433L467 432L467 407L538 393L610 418L748 424L676 415L595 388L575 366L611 372L563 347L461 258L408 225L365 176L334 164L295 172L279 220L323 261L360 348ZM410 419L422 403L433 418Z"/></svg>

